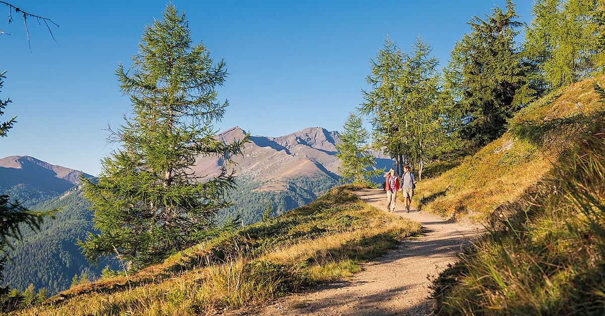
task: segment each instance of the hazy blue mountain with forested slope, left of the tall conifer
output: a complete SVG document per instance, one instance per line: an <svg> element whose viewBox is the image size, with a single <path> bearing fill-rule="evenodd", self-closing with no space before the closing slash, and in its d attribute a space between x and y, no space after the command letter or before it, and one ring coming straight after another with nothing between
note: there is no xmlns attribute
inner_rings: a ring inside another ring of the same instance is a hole
<svg viewBox="0 0 605 316"><path fill-rule="evenodd" d="M0 159L0 194L31 211L61 208L54 219L45 219L40 232L22 229L22 242L15 244L4 270L5 284L22 291L33 283L54 294L68 288L75 274L99 275L103 266L91 266L75 245L93 229L90 204L76 187L80 174L91 177L29 156Z"/></svg>

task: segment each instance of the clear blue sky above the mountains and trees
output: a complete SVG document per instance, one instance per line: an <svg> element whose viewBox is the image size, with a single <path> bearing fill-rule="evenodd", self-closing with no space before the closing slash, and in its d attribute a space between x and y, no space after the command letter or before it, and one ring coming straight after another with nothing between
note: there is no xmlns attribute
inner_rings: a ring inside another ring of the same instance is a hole
<svg viewBox="0 0 605 316"><path fill-rule="evenodd" d="M7 1L52 19L28 20L31 52L18 15L6 24L0 4L0 121L18 116L0 157L28 155L90 174L111 153L108 124L131 109L114 71L129 65L143 27L159 19L166 1ZM194 42L203 41L229 77L219 90L229 107L215 128L239 126L253 135L282 136L307 127L341 130L362 102L370 58L385 36L409 50L417 36L445 65L454 41L473 16L505 8L505 0L441 1L173 1L186 13ZM531 21L532 1L519 1Z"/></svg>

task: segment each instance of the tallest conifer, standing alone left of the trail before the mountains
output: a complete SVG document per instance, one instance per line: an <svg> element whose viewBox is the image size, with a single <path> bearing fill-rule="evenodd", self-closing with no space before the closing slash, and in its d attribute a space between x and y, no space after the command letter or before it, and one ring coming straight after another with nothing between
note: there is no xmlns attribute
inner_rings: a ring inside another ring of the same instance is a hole
<svg viewBox="0 0 605 316"><path fill-rule="evenodd" d="M102 160L98 180L82 179L94 209L94 227L79 244L90 260L116 255L132 266L159 262L212 236L213 217L230 205L234 174L212 178L191 170L198 156L232 162L247 136L231 143L216 138L227 101L216 88L227 76L203 44L193 45L183 13L168 5L148 25L128 71L119 65L120 88L130 96L132 117L110 139L121 148Z"/></svg>

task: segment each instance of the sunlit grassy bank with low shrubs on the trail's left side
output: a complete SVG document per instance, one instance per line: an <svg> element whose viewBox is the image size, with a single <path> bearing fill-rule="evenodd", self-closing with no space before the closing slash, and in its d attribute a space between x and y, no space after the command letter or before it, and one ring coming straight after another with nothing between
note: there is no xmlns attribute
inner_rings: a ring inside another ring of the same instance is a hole
<svg viewBox="0 0 605 316"><path fill-rule="evenodd" d="M359 263L420 233L339 186L134 275L88 283L18 315L198 315L235 309L359 271Z"/></svg>

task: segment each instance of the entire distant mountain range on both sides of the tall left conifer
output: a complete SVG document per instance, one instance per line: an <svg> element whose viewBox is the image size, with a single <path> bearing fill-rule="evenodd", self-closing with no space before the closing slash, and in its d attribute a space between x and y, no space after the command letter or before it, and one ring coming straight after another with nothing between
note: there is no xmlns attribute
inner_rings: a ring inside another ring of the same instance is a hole
<svg viewBox="0 0 605 316"><path fill-rule="evenodd" d="M218 138L231 142L244 134L234 127ZM234 157L237 165L227 166L236 171L237 189L229 194L234 205L217 215L218 222L237 216L246 224L257 222L267 203L275 216L311 202L338 184L338 132L313 127L281 137L251 136L250 140L244 156ZM200 156L192 169L198 176L211 177L223 164L216 157ZM376 154L377 168L392 165L393 160ZM52 294L68 288L74 274L94 277L107 264L91 267L74 245L93 229L90 204L74 187L80 174L28 156L0 159L0 194L10 194L32 210L63 208L56 219L44 223L41 232L25 232L24 242L12 252L15 263L7 266L5 283L21 290L33 283Z"/></svg>

